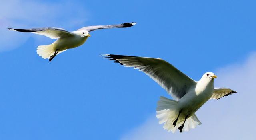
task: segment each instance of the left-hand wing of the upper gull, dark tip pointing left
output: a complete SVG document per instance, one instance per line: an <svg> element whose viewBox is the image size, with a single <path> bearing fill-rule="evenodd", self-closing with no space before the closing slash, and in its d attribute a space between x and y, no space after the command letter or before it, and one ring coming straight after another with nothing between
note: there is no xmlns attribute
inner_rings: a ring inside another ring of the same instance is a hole
<svg viewBox="0 0 256 140"><path fill-rule="evenodd" d="M54 28L54 27L31 28L31 29L13 29L13 28L8 28L8 29L12 31L31 32L38 35L44 35L46 37L50 37L51 39L58 39L61 37L70 37L74 35L73 33L66 31L65 29Z"/></svg>

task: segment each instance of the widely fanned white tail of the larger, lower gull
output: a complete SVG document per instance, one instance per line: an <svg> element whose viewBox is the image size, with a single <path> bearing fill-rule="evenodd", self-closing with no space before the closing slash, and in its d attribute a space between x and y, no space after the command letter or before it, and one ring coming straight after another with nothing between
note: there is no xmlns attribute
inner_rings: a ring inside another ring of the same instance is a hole
<svg viewBox="0 0 256 140"><path fill-rule="evenodd" d="M160 100L157 103L156 108L156 117L159 119L159 124L164 123L164 129L168 131L172 131L174 133L179 126L181 126L184 122L185 117L180 115L176 126L173 125L173 122L178 117L179 108L178 108L179 101L174 101L168 99L166 97L160 97ZM195 114L191 115L185 122L184 128L182 131L189 131L191 128L195 128L196 125L200 125L201 122L198 120Z"/></svg>

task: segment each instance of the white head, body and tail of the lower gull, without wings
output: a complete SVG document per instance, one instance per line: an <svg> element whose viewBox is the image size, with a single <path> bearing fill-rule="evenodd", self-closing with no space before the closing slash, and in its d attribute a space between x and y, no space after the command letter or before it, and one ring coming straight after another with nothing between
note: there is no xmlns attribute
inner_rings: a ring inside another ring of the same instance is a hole
<svg viewBox="0 0 256 140"><path fill-rule="evenodd" d="M209 74L209 76L206 76L207 74ZM214 76L212 72L206 72L206 74L196 82L195 86L192 86L182 98L178 99L176 105L162 109L162 106L165 105L165 103L162 103L162 98L160 98L160 101L158 101L158 108L156 109L156 116L160 120L165 120L164 122L166 123L164 124L164 129L175 132L178 126L182 126L186 121L186 117L188 118L188 121L184 124L185 131L195 128L197 124L201 124L194 113L212 97L214 91L214 78L211 78L211 76ZM178 119L177 116L179 116ZM192 116L195 116L196 119L192 119ZM173 124L176 119L177 121L175 125L166 125ZM194 124L193 121L197 124ZM180 132L182 132L182 130L180 130Z"/></svg>

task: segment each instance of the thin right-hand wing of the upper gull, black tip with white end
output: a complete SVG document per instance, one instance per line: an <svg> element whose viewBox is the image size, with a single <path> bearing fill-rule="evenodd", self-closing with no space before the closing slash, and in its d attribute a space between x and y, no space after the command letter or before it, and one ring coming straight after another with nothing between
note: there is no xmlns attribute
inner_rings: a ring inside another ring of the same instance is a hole
<svg viewBox="0 0 256 140"><path fill-rule="evenodd" d="M82 27L80 30L86 30L86 31L94 31L97 29L108 29L108 28L126 28L126 27L132 27L135 25L136 22L131 22L131 23L122 23L122 24L116 24L116 25L98 25L98 26L87 26L87 27Z"/></svg>

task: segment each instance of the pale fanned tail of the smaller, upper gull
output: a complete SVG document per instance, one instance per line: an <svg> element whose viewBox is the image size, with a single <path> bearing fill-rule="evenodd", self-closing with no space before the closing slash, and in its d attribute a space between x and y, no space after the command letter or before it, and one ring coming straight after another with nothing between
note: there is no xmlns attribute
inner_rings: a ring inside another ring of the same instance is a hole
<svg viewBox="0 0 256 140"><path fill-rule="evenodd" d="M55 44L54 43L49 44L49 45L41 45L41 46L38 46L37 49L36 49L37 54L39 56L41 56L42 58L44 58L44 59L46 59L46 58L49 59L50 56L54 55L55 51L56 50L55 50ZM66 50L63 50L63 51L66 51ZM58 51L58 54L60 54L63 51Z"/></svg>

